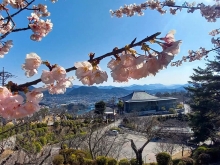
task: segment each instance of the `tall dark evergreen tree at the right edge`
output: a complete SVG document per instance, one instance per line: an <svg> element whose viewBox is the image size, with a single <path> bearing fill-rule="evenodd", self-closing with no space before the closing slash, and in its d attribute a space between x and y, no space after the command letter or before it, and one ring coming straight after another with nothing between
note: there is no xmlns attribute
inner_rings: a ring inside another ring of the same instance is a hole
<svg viewBox="0 0 220 165"><path fill-rule="evenodd" d="M191 97L190 124L194 130L195 142L208 138L216 139L220 113L220 51L215 60L208 61L206 68L194 69L186 88Z"/></svg>

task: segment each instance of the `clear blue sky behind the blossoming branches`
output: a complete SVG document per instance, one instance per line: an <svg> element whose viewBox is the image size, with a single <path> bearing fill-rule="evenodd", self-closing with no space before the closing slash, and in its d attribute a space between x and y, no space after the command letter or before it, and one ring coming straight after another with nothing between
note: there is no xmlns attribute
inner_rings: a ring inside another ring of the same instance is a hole
<svg viewBox="0 0 220 165"><path fill-rule="evenodd" d="M208 33L219 28L218 21L208 23L196 11L188 14L186 10L178 12L177 15L161 15L157 11L147 9L144 16L111 17L109 10L118 9L124 4L142 3L142 0L59 0L52 4L49 0L40 1L48 5L51 12L49 19L52 20L54 27L51 33L41 42L30 40L32 32L24 31L10 34L7 39L13 40L14 47L3 59L0 59L0 66L5 70L16 75L11 79L14 82L25 83L40 77L42 69L32 78L26 78L24 71L21 69L26 54L35 52L43 60L48 60L52 64L59 64L65 68L72 67L75 62L88 60L88 53L94 52L96 56L110 52L114 47L124 47L129 44L135 37L137 41L142 40L156 32L162 32L161 37L172 29L176 30L176 39L182 40L181 52L174 58L179 60L182 56L187 55L189 49L197 50L203 46L207 49L212 48L210 42L211 36ZM201 2L201 1L196 1ZM202 1L206 4L211 3L209 0ZM181 5L183 1L177 1ZM13 13L13 12L12 12ZM30 11L24 12L15 18L16 27L27 27L27 16ZM143 52L139 52L143 53ZM213 59L214 54L210 54ZM101 61L102 70L108 73L110 70L106 67L110 58ZM150 76L141 80L131 80L128 83L114 83L112 78L102 85L127 86L131 84L185 84L189 81L189 76L193 73L193 68L197 66L204 67L204 60L192 63L184 63L180 67L168 67L160 71L155 77ZM1 69L1 68L0 68ZM69 76L74 76L71 72ZM80 85L79 80L74 80L74 85ZM39 84L42 85L42 84ZM38 85L38 86L39 86Z"/></svg>

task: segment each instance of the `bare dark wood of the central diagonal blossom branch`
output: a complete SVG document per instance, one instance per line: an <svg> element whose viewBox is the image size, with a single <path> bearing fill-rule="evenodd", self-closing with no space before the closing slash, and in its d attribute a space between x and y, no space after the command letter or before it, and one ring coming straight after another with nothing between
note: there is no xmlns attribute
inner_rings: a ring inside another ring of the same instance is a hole
<svg viewBox="0 0 220 165"><path fill-rule="evenodd" d="M153 35L151 35L151 36L149 36L149 37L146 37L146 38L144 38L143 40L141 40L141 41L139 41L139 42L137 42L137 43L134 43L135 41L136 41L136 38L129 44L129 48L133 48L133 47L136 47L136 46L141 46L142 45L142 43L145 43L145 42L148 42L148 41L150 41L150 40L153 40L153 39L155 39L158 35L160 35L161 33L160 32L157 32L157 33L155 33L155 34L153 34ZM104 58L106 58L106 57L109 57L109 56L112 56L112 55L115 55L115 54L118 54L118 53L121 53L121 52L123 52L123 51L125 51L126 50L126 48L120 48L120 49L117 49L117 50L113 50L113 51L111 51L111 52L109 52L109 53L106 53L106 54L104 54L104 55L102 55L102 56L99 56L99 57L97 57L97 58L94 58L94 59L92 59L92 61L91 60L89 60L90 62L93 62L93 61L101 61L102 59L104 59ZM73 66L73 67L70 67L70 68L67 68L66 69L66 72L70 72L70 71L73 71L73 70L76 70L77 68L75 67L75 66ZM41 82L41 79L39 78L39 79L37 79L37 80L34 80L34 81L31 81L31 82L26 82L26 83L24 83L24 84L20 84L20 85L16 85L16 86L14 86L14 85L12 85L11 86L11 91L13 92L13 91L17 91L17 90L19 90L19 89L22 89L22 88L25 88L25 87L28 87L28 86L31 86L31 85L36 85L36 84L38 84L38 83L40 83Z"/></svg>

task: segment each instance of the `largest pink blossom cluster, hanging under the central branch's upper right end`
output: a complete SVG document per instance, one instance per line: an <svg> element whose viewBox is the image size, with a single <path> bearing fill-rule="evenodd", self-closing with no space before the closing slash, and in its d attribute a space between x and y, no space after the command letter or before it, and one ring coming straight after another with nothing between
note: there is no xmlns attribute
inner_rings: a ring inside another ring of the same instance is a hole
<svg viewBox="0 0 220 165"><path fill-rule="evenodd" d="M181 41L161 44L162 52L150 53L149 55L136 56L133 51L125 51L116 59L108 63L111 76L115 82L128 82L129 79L137 79L156 75L160 70L167 67L173 60L174 55L179 53Z"/></svg>

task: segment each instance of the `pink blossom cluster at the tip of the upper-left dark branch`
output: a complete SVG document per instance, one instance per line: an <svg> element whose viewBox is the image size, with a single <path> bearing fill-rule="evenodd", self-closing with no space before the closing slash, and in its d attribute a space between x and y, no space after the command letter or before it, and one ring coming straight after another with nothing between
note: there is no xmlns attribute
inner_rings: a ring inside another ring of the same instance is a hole
<svg viewBox="0 0 220 165"><path fill-rule="evenodd" d="M29 27L34 32L30 38L34 41L41 41L52 30L53 23L49 19L46 21L40 19L36 13L31 13L31 17L28 19L30 21Z"/></svg>

